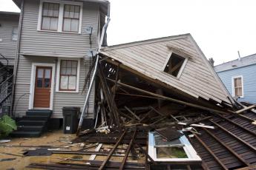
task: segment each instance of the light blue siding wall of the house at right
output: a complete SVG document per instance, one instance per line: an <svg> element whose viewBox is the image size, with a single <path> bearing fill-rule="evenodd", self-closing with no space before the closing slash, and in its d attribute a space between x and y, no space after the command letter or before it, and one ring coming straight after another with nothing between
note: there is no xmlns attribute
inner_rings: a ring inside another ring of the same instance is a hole
<svg viewBox="0 0 256 170"><path fill-rule="evenodd" d="M243 76L243 98L238 101L249 101L256 103L256 64L237 69L229 69L223 72L217 72L226 88L232 94L232 77Z"/></svg>

